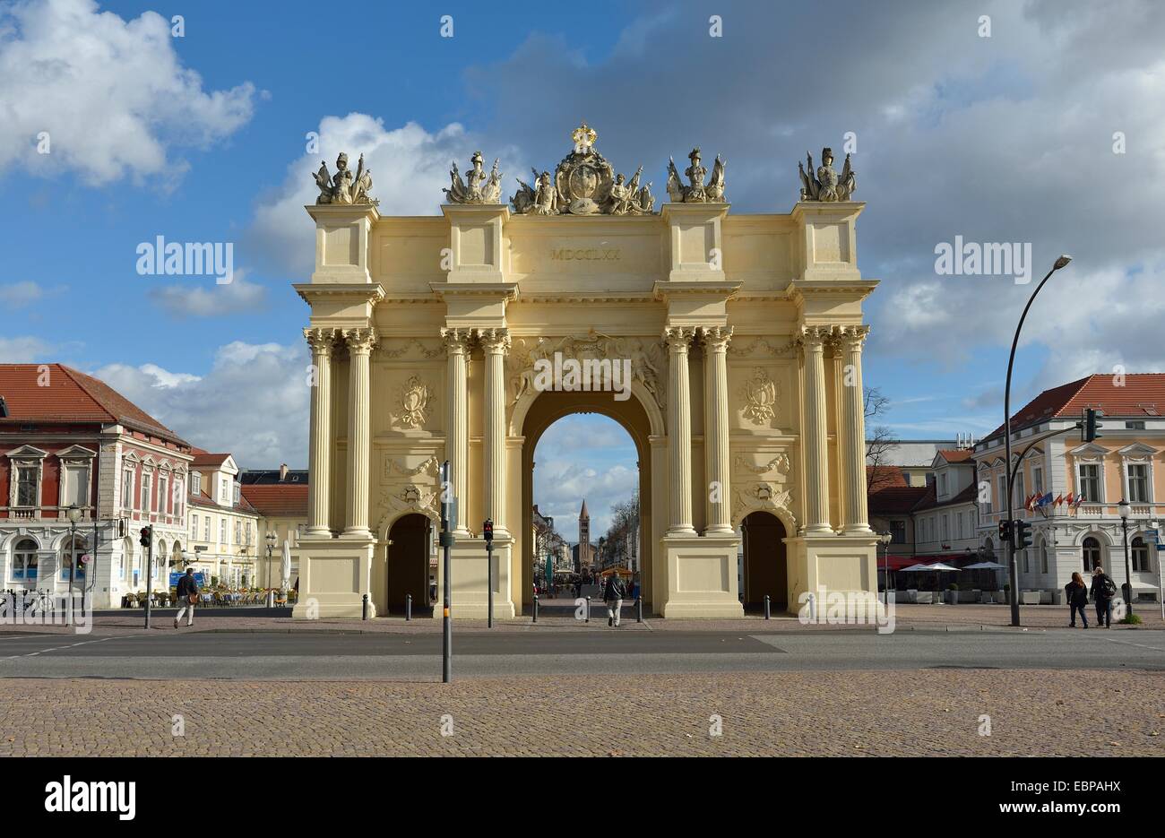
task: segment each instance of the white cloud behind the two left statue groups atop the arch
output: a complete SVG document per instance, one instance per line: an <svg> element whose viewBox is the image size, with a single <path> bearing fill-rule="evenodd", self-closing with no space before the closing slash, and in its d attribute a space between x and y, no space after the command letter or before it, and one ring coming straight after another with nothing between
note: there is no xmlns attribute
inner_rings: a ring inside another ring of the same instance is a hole
<svg viewBox="0 0 1165 838"><path fill-rule="evenodd" d="M271 196L261 199L255 210L252 235L255 244L281 268L305 275L315 265L316 240L311 219L303 207L315 204L319 189L312 175L320 161L336 171L336 157L346 152L354 168L362 154L365 168L372 171L374 198L380 200L382 216L432 216L439 213L449 186L450 162L458 161L464 172L467 161L480 145L457 122L429 133L416 122L400 128L384 128L383 120L363 113L325 117L319 122L319 150L304 155L288 166L287 179ZM493 157L514 159L511 149L481 148L487 168ZM514 169L502 167L503 175ZM513 184L509 176L503 183Z"/></svg>

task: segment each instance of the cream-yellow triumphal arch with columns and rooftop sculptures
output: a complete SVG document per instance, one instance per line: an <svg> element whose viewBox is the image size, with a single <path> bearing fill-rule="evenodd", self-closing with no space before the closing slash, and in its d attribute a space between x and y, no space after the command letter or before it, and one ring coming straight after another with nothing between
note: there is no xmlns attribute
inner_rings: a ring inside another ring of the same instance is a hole
<svg viewBox="0 0 1165 838"><path fill-rule="evenodd" d="M529 607L532 452L579 411L635 442L649 613L876 590L861 369L877 282L857 270L848 156L800 167L790 212L734 214L719 156L669 162L657 205L594 129L571 139L511 196L474 153L432 217L381 216L362 159L315 175L316 269L295 286L313 383L295 617L360 617L366 594L373 615L428 605L443 460L453 617L485 614L485 519L495 614Z"/></svg>

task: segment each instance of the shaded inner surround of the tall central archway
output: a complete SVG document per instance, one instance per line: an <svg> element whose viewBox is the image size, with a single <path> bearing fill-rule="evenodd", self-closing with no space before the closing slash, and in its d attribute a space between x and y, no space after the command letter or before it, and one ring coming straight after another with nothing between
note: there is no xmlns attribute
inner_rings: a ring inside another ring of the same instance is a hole
<svg viewBox="0 0 1165 838"><path fill-rule="evenodd" d="M654 406L652 406L654 407ZM518 590L522 592L522 608L534 604L534 543L531 531L534 506L534 452L538 439L555 422L572 414L595 413L617 422L631 437L638 458L640 472L640 586L643 592L645 613L652 613L656 554L656 531L652 517L652 416L633 392L631 397L616 401L609 392L545 392L538 393L532 402L523 406L521 415L515 413L522 438L522 561L520 562Z"/></svg>

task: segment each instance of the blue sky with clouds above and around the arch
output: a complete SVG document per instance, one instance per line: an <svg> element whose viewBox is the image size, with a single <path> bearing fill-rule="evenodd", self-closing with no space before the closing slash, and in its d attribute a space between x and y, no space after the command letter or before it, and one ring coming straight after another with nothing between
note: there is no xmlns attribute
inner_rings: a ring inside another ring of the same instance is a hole
<svg viewBox="0 0 1165 838"><path fill-rule="evenodd" d="M1017 403L1165 366L1163 43L1149 0L0 2L0 362L70 364L246 467L303 467L291 283L311 272L319 160L362 152L383 214L436 214L451 160L500 156L513 186L585 119L657 196L670 155L722 154L734 212L789 212L797 162L848 140L859 267L882 281L876 423L983 434L1035 286L939 273L955 237L1030 245L1032 283L1074 258L1025 324ZM231 242L232 281L140 274L157 237ZM605 422L563 427L601 438ZM621 456L548 456L588 492L594 531L634 488L622 439Z"/></svg>

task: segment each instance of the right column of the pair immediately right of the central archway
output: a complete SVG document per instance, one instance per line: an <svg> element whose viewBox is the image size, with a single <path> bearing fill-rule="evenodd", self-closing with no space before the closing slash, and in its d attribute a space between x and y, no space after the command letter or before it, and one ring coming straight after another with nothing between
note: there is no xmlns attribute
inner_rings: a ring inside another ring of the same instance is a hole
<svg viewBox="0 0 1165 838"><path fill-rule="evenodd" d="M732 326L701 330L704 340L704 463L707 476L705 535L732 535L728 466L728 340Z"/></svg>

